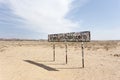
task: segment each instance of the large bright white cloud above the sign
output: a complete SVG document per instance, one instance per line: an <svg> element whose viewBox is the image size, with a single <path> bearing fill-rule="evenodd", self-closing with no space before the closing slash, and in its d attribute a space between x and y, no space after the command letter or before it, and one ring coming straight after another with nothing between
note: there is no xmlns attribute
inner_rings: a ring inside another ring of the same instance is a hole
<svg viewBox="0 0 120 80"><path fill-rule="evenodd" d="M0 0L9 4L13 14L24 19L22 28L39 33L71 32L79 24L66 19L72 0Z"/></svg>

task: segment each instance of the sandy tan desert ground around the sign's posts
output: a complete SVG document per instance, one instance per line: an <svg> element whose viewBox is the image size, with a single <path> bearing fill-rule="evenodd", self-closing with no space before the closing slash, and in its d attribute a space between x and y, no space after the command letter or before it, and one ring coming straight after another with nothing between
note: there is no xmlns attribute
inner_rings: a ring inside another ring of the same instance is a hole
<svg viewBox="0 0 120 80"><path fill-rule="evenodd" d="M86 42L84 54L82 68L81 42L0 41L0 80L120 80L120 41Z"/></svg>

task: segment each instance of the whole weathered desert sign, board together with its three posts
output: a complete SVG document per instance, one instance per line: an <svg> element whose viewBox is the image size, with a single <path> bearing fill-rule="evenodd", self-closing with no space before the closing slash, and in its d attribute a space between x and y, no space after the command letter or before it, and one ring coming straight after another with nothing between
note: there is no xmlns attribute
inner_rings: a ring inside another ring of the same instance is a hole
<svg viewBox="0 0 120 80"><path fill-rule="evenodd" d="M90 31L83 32L71 32L71 33L60 33L60 34L49 34L48 35L49 42L65 42L66 48L66 64L68 63L68 55L67 55L67 44L66 42L82 42L82 67L84 68L84 47L83 42L90 42ZM55 61L55 44L53 45L53 57Z"/></svg>

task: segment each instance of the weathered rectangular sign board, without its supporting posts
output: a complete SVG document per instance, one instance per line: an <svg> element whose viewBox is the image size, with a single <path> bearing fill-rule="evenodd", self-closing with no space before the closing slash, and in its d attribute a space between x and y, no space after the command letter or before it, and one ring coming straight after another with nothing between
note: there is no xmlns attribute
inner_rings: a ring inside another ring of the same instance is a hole
<svg viewBox="0 0 120 80"><path fill-rule="evenodd" d="M49 34L49 42L89 42L90 31Z"/></svg>

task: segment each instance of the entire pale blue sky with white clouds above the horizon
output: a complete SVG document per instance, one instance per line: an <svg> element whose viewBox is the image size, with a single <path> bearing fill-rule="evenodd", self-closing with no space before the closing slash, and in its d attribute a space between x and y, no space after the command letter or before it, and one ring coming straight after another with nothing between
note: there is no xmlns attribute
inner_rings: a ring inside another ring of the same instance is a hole
<svg viewBox="0 0 120 80"><path fill-rule="evenodd" d="M87 30L92 40L120 40L120 0L0 0L0 38Z"/></svg>

